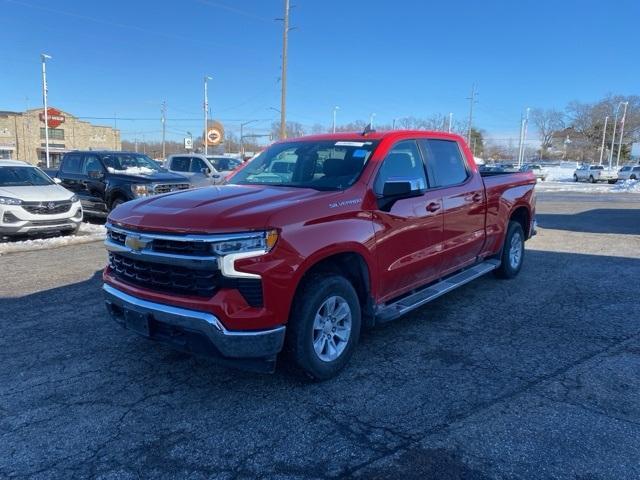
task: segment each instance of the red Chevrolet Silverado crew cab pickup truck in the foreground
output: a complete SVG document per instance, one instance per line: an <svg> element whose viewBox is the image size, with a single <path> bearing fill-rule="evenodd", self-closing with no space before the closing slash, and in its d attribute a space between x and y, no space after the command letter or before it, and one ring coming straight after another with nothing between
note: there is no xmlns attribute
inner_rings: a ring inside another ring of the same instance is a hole
<svg viewBox="0 0 640 480"><path fill-rule="evenodd" d="M273 144L227 185L109 215L111 316L152 339L314 379L360 331L485 273L511 278L535 233L531 172L480 174L464 140L392 131Z"/></svg>

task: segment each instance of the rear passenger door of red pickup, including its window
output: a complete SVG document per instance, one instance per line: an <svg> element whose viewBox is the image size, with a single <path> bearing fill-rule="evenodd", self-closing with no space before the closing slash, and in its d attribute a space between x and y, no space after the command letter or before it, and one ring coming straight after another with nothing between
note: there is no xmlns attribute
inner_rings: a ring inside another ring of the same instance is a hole
<svg viewBox="0 0 640 480"><path fill-rule="evenodd" d="M486 199L482 178L455 140L419 141L429 179L442 196L441 275L475 263L485 240Z"/></svg>

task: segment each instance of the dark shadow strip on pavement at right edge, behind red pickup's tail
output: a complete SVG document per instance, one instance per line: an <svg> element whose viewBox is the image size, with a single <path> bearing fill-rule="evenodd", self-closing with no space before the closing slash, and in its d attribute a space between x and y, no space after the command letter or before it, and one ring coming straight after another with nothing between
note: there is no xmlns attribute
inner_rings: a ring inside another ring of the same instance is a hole
<svg viewBox="0 0 640 480"><path fill-rule="evenodd" d="M543 228L585 233L640 235L640 205L637 209L596 208L580 213L538 213Z"/></svg>

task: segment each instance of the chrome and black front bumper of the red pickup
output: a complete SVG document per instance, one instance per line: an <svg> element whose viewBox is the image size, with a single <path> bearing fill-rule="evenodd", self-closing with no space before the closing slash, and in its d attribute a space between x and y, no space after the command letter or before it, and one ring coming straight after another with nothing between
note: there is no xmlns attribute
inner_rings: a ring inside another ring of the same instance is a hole
<svg viewBox="0 0 640 480"><path fill-rule="evenodd" d="M227 330L213 314L133 297L111 285L103 285L111 317L137 333L206 356L275 361L282 350L285 327L270 330ZM208 343L203 348L202 341Z"/></svg>

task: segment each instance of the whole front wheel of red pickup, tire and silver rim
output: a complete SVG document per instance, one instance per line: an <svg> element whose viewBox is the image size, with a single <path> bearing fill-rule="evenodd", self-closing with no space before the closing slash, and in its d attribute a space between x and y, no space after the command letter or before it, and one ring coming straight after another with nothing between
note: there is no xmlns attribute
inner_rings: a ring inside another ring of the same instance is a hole
<svg viewBox="0 0 640 480"><path fill-rule="evenodd" d="M351 282L340 275L314 276L294 299L287 346L305 374L328 380L351 358L360 325L360 302Z"/></svg>

